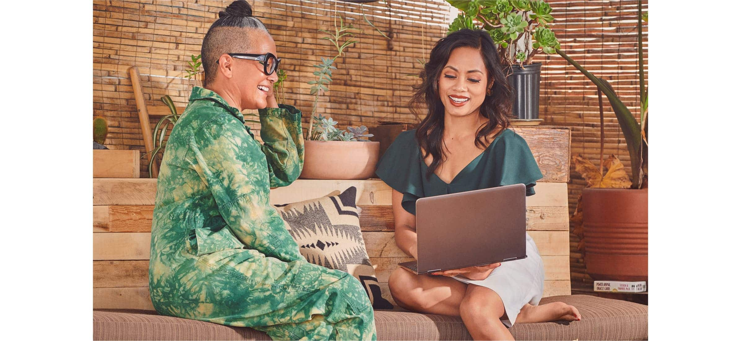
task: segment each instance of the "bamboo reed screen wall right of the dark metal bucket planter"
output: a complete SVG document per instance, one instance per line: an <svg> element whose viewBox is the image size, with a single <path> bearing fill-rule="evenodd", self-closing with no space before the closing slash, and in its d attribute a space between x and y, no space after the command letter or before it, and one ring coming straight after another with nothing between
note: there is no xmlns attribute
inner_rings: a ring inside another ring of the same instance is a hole
<svg viewBox="0 0 741 341"><path fill-rule="evenodd" d="M639 1L548 1L556 19L553 30L562 50L595 76L607 79L625 105L639 117L638 27ZM648 11L648 1L642 1ZM643 58L648 71L648 25L643 25ZM597 87L561 56L536 56L542 62L540 81L540 118L547 125L571 128L571 153L582 154L599 165L599 104ZM648 79L648 72L646 73ZM648 82L646 83L648 85ZM616 154L630 174L631 160L625 138L615 114L604 98L605 157ZM568 184L569 212L574 213L576 199L585 181L571 165ZM572 226L572 229L574 227ZM572 288L591 286L585 273L583 253L577 249L578 236L571 234ZM581 284L580 283L585 283Z"/></svg>

